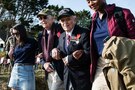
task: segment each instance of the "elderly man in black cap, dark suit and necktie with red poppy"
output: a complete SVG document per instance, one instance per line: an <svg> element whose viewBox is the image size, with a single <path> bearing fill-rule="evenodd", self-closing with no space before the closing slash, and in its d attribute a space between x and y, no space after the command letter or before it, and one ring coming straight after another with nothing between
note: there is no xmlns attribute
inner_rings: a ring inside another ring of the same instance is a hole
<svg viewBox="0 0 135 90"><path fill-rule="evenodd" d="M90 90L89 31L76 25L75 13L70 8L59 12L58 20L64 29L52 57L62 58L65 90Z"/></svg>

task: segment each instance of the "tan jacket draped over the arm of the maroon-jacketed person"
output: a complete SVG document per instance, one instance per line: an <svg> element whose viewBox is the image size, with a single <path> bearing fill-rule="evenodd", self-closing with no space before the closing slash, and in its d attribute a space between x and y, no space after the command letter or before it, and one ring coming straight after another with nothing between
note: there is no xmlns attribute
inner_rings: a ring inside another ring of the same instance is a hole
<svg viewBox="0 0 135 90"><path fill-rule="evenodd" d="M103 49L103 69L111 90L135 90L135 40L111 37Z"/></svg>

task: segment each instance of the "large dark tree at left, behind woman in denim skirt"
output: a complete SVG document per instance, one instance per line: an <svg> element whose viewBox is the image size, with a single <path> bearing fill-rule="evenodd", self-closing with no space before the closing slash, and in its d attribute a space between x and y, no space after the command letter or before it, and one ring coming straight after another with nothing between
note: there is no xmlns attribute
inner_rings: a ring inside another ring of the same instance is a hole
<svg viewBox="0 0 135 90"><path fill-rule="evenodd" d="M6 36L15 23L29 27L33 17L47 5L48 0L0 0L0 36Z"/></svg>

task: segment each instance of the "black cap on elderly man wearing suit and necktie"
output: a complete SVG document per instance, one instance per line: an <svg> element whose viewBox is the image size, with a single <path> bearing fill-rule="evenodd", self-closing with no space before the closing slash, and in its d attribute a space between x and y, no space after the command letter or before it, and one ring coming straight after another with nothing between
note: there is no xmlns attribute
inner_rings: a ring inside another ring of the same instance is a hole
<svg viewBox="0 0 135 90"><path fill-rule="evenodd" d="M63 16L72 16L72 15L75 15L75 13L70 8L64 8L59 12L58 20L60 20Z"/></svg>

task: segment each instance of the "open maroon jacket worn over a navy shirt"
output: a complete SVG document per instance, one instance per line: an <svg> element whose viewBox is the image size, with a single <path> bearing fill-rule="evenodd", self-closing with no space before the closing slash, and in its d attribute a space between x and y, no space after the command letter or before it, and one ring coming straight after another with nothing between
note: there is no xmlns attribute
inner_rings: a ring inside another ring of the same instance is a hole
<svg viewBox="0 0 135 90"><path fill-rule="evenodd" d="M123 31L119 28L116 18L114 17L114 9L115 4L107 5L105 8L105 11L107 13L107 24L108 24L108 32L110 36L123 36ZM127 34L128 38L135 39L135 18L133 14L130 12L129 9L123 8L124 18L127 24ZM95 20L96 20L97 12L93 14L92 17L92 26L91 26L91 32L90 32L90 53L91 53L91 65L90 65L90 74L91 74L91 80L93 81L96 66L97 66L97 60L98 60L98 54L95 49L94 43L93 43L93 31L95 30Z"/></svg>

